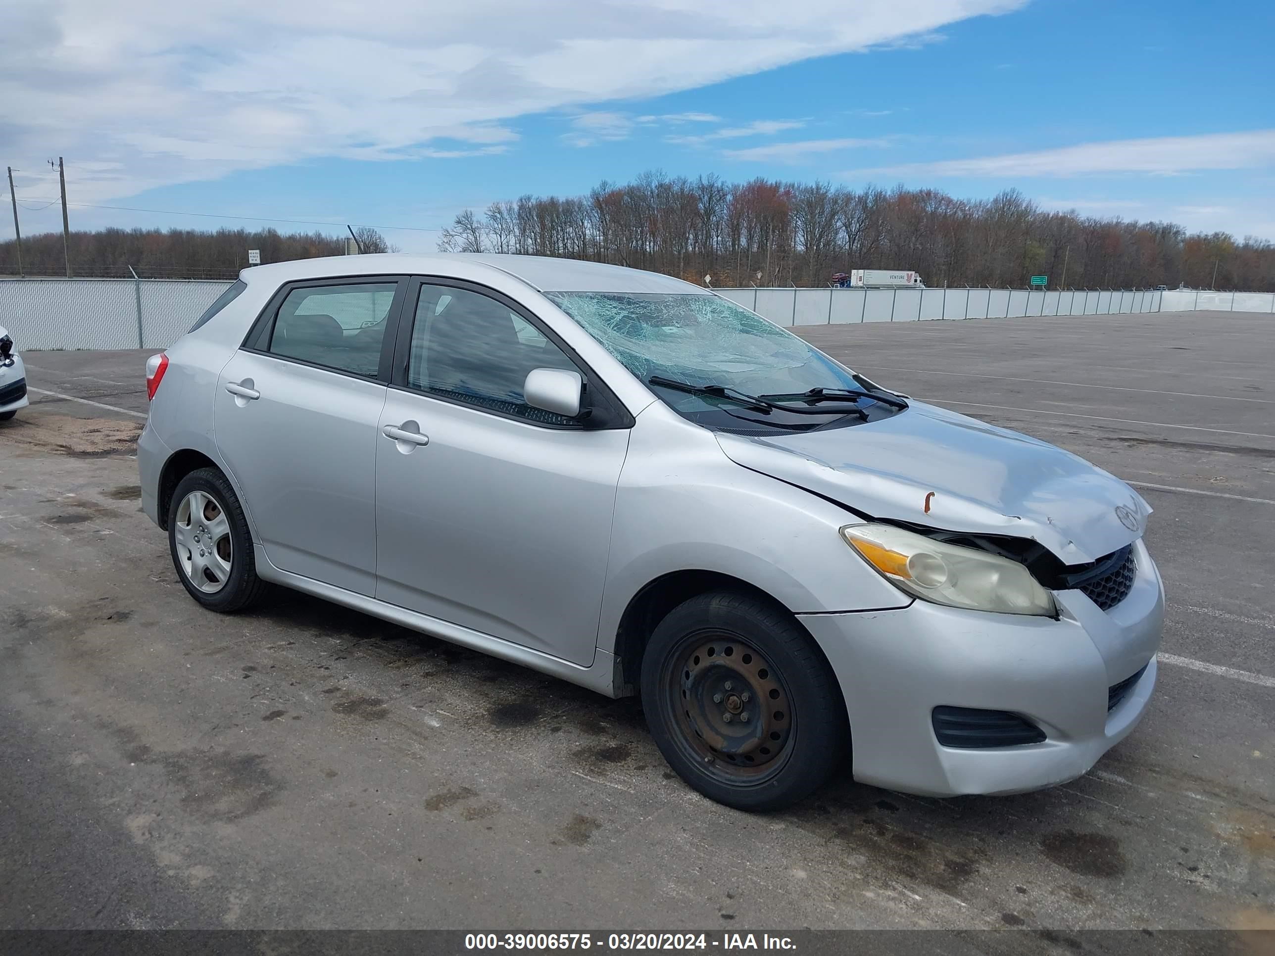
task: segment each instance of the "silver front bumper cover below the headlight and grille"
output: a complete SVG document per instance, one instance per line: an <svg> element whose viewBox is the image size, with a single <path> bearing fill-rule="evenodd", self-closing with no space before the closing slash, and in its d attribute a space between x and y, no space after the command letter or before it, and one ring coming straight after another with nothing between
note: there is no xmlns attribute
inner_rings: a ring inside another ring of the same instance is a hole
<svg viewBox="0 0 1275 956"><path fill-rule="evenodd" d="M932 797L1005 794L1086 772L1141 719L1155 687L1164 589L1141 542L1128 595L1103 612L1080 591L1054 594L1058 621L914 602L896 611L799 614L845 695L854 779ZM1141 678L1107 710L1107 692ZM943 747L937 706L1019 714L1040 743Z"/></svg>

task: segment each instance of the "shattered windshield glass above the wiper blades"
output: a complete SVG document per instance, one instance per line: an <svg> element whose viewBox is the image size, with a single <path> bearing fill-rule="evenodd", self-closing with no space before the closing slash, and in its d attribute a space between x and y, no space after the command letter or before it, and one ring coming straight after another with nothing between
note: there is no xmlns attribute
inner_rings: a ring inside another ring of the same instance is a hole
<svg viewBox="0 0 1275 956"><path fill-rule="evenodd" d="M863 387L813 347L720 296L547 294L643 381L659 375L754 395Z"/></svg>

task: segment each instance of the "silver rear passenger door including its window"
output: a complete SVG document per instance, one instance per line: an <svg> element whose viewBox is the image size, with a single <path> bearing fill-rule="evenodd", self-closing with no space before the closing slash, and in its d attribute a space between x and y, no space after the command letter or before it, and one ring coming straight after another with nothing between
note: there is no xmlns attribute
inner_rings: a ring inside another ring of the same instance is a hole
<svg viewBox="0 0 1275 956"><path fill-rule="evenodd" d="M371 595L375 456L407 280L284 286L222 370L217 447L275 567Z"/></svg>

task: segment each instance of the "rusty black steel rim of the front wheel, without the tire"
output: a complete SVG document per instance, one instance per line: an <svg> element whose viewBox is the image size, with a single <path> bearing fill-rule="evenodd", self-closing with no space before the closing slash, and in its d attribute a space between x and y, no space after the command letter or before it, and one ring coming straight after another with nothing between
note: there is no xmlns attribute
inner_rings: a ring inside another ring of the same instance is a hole
<svg viewBox="0 0 1275 956"><path fill-rule="evenodd" d="M797 729L792 696L755 646L738 635L690 635L667 658L666 673L681 746L705 772L748 785L784 769Z"/></svg>

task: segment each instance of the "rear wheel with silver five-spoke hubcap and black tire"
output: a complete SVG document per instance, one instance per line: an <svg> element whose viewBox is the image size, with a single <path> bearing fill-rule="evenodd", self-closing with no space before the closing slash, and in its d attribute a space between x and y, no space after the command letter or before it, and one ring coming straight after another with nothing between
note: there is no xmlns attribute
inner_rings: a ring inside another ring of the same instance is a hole
<svg viewBox="0 0 1275 956"><path fill-rule="evenodd" d="M242 611L265 591L244 507L215 468L200 468L177 483L168 551L186 593L209 611Z"/></svg>

